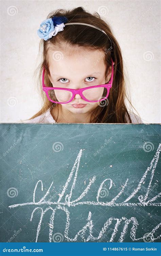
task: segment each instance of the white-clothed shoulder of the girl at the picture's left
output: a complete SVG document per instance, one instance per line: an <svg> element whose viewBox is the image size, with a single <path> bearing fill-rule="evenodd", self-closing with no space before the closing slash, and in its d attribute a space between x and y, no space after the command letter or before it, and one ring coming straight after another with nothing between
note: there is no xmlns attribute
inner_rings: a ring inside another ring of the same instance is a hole
<svg viewBox="0 0 161 256"><path fill-rule="evenodd" d="M48 109L46 112L44 112L39 116L36 116L32 119L23 120L21 122L22 123L55 123L55 120L50 113L50 109Z"/></svg>

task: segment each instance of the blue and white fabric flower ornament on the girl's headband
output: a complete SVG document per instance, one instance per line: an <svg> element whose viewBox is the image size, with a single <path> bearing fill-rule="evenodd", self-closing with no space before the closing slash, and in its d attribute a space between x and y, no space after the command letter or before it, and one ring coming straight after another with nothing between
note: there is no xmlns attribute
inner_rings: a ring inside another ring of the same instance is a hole
<svg viewBox="0 0 161 256"><path fill-rule="evenodd" d="M37 34L40 38L47 41L49 38L56 35L59 31L64 30L64 23L67 23L68 19L64 16L54 16L43 20L40 24L40 28L37 30Z"/></svg>

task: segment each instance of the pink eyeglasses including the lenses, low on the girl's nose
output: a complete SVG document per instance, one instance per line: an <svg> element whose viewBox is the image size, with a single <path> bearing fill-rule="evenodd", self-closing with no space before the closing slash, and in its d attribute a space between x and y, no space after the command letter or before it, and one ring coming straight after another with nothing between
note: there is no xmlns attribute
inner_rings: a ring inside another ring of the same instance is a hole
<svg viewBox="0 0 161 256"><path fill-rule="evenodd" d="M88 102L99 102L107 99L110 88L113 82L113 60L111 58L112 71L111 78L107 84L94 85L81 89L59 88L59 87L46 87L44 84L45 68L42 72L42 88L46 93L47 98L54 103L65 104L71 102L76 94L79 94L82 99Z"/></svg>

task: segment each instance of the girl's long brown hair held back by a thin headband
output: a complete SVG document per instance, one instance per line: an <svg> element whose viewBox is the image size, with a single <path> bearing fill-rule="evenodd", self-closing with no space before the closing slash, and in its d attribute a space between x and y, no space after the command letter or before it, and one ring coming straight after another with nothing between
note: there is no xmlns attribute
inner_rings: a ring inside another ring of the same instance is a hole
<svg viewBox="0 0 161 256"><path fill-rule="evenodd" d="M86 12L83 7L77 7L72 10L59 9L49 13L47 18L52 18L53 16L65 16L68 19L68 23L79 22L87 23L99 27L104 30L112 42L112 49L110 49L111 42L108 37L100 30L91 28L89 26L85 27L84 25L79 26L66 26L63 31L58 32L56 36L45 41L41 39L39 44L39 52L42 47L42 62L35 71L39 71L38 75L38 89L43 99L43 105L41 110L32 116L30 119L37 117L45 113L48 109L58 108L58 104L53 103L48 100L46 94L42 91L42 70L43 67L46 68L46 75L44 82L46 85L52 87L52 83L48 77L49 74L49 62L48 62L48 49L49 47L54 47L60 45L61 43L66 43L72 46L83 46L88 49L96 50L100 49L106 51L104 54L104 60L108 67L111 66L111 57L115 62L114 75L113 75L113 84L110 89L108 100L104 105L99 104L91 115L90 123L132 123L130 115L127 111L127 106L125 104L125 99L127 99L130 107L132 106L130 100L125 93L125 74L123 70L123 59L122 53L118 41L115 39L112 34L110 25L107 24L100 15L95 12L93 15L89 12ZM86 28L86 32L83 32ZM40 86L41 85L41 86ZM133 107L133 106L132 106ZM135 109L135 108L134 108ZM137 112L138 113L138 112ZM56 119L57 120L57 119Z"/></svg>

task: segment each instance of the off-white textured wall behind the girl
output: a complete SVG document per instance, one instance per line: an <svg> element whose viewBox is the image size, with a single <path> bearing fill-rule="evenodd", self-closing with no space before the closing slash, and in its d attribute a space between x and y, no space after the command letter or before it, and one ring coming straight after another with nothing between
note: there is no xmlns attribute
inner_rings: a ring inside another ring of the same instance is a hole
<svg viewBox="0 0 161 256"><path fill-rule="evenodd" d="M56 9L83 6L111 25L122 49L127 89L144 123L160 123L160 1L2 1L1 123L30 118L41 108L34 71L37 35Z"/></svg>

